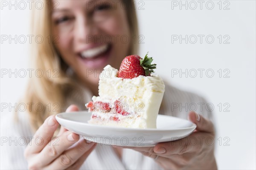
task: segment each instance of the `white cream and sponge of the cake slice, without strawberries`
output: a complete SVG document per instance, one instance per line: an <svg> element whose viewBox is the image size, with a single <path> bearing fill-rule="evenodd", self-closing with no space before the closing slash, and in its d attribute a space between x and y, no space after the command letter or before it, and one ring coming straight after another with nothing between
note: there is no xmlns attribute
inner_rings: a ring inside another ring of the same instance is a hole
<svg viewBox="0 0 256 170"><path fill-rule="evenodd" d="M105 66L99 79L99 96L93 96L93 102L102 101L111 104L116 100L123 102L123 107L131 115L118 114L120 123L125 127L156 128L157 114L163 99L165 85L158 75L139 76L133 79L117 77L118 70ZM108 119L113 113L96 113Z"/></svg>

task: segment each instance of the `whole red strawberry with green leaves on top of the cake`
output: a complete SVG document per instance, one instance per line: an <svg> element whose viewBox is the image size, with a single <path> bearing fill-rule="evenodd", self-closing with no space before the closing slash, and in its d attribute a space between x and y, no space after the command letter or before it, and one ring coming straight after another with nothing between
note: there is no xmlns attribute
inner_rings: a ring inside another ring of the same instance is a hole
<svg viewBox="0 0 256 170"><path fill-rule="evenodd" d="M133 79L134 77L150 76L150 73L154 72L156 64L151 64L152 57L148 57L148 53L142 59L138 55L127 56L122 60L118 71L118 77L124 79Z"/></svg>

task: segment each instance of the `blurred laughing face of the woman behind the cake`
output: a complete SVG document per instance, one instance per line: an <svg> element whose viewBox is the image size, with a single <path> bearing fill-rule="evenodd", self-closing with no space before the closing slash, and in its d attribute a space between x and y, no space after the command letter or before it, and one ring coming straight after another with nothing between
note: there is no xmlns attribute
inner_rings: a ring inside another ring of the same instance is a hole
<svg viewBox="0 0 256 170"><path fill-rule="evenodd" d="M55 47L78 77L99 82L105 65L119 68L131 40L125 9L109 0L52 1ZM58 39L58 40L57 40Z"/></svg>

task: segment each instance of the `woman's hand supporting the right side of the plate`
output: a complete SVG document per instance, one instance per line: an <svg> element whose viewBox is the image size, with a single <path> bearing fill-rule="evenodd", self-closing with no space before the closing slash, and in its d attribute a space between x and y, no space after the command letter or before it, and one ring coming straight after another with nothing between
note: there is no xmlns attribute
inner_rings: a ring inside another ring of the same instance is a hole
<svg viewBox="0 0 256 170"><path fill-rule="evenodd" d="M155 159L164 169L217 169L214 157L214 126L195 112L189 113L190 121L197 127L186 138L158 143L154 147L124 147L137 150Z"/></svg>

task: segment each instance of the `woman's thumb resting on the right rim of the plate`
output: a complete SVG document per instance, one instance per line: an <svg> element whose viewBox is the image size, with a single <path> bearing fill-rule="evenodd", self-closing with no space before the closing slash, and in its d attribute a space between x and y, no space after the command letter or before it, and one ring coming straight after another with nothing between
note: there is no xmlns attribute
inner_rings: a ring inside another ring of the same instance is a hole
<svg viewBox="0 0 256 170"><path fill-rule="evenodd" d="M213 123L210 120L204 118L204 116L195 112L189 112L188 118L191 122L196 124L196 130L214 133Z"/></svg>

